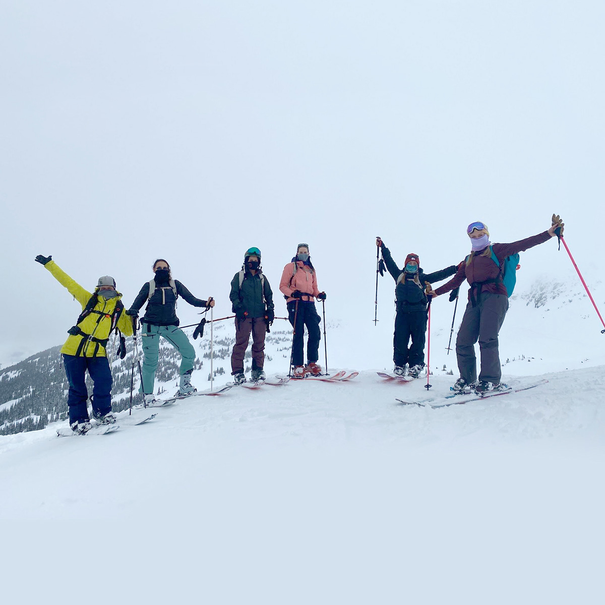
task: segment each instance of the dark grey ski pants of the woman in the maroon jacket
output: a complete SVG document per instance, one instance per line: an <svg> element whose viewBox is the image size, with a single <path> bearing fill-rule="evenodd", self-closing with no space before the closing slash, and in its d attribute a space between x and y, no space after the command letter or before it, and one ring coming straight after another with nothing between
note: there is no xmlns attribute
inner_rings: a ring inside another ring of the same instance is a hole
<svg viewBox="0 0 605 605"><path fill-rule="evenodd" d="M456 356L460 378L468 384L477 380L477 358L475 343L479 340L481 355L480 381L499 384L502 378L498 333L508 311L508 296L482 293L476 306L471 301L466 305L462 324L456 338Z"/></svg>

